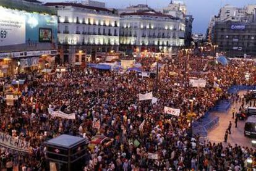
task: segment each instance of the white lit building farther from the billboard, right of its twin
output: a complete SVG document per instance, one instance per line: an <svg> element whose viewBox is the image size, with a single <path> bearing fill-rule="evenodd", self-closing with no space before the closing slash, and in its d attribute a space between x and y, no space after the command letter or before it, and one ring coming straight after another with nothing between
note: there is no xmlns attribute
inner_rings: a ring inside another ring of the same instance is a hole
<svg viewBox="0 0 256 171"><path fill-rule="evenodd" d="M184 46L186 25L171 15L154 11L123 13L120 27L122 50L172 52Z"/></svg>

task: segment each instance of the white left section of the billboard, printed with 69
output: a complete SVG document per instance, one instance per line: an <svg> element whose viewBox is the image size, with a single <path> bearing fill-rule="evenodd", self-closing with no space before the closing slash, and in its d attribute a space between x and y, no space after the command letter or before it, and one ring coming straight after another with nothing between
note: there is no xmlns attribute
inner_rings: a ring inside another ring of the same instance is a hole
<svg viewBox="0 0 256 171"><path fill-rule="evenodd" d="M0 7L0 46L25 43L25 17Z"/></svg>

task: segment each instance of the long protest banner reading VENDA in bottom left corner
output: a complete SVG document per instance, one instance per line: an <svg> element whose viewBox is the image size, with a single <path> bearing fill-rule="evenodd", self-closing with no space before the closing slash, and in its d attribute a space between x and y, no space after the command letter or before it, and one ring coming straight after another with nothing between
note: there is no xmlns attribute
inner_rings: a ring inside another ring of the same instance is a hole
<svg viewBox="0 0 256 171"><path fill-rule="evenodd" d="M13 138L6 133L0 132L0 146L14 149L16 151L28 152L30 148L30 143L20 140L19 138Z"/></svg>

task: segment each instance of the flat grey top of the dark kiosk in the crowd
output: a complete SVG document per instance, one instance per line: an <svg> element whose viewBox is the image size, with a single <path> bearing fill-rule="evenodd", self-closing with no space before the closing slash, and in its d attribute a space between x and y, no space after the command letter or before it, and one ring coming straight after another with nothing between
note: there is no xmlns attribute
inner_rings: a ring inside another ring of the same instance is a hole
<svg viewBox="0 0 256 171"><path fill-rule="evenodd" d="M57 138L53 138L51 140L48 140L45 142L45 144L51 144L54 146L62 146L64 148L72 148L76 146L79 143L82 143L85 141L85 138L80 138L79 136L71 136L62 134L61 136L58 136Z"/></svg>

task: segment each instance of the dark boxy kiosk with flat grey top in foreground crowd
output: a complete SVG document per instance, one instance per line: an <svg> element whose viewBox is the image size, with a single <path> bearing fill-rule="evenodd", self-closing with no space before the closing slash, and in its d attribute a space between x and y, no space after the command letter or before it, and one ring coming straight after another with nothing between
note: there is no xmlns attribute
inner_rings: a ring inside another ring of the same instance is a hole
<svg viewBox="0 0 256 171"><path fill-rule="evenodd" d="M85 138L61 135L45 141L49 170L82 170L87 156Z"/></svg>

